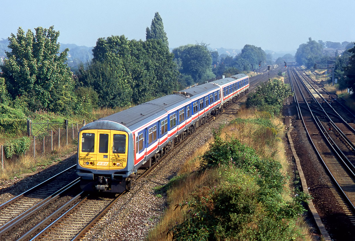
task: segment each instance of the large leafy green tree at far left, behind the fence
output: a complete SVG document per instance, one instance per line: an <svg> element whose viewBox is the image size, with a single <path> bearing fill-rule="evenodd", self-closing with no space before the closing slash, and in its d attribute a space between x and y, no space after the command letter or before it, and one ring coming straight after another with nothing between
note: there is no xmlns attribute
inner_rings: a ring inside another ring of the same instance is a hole
<svg viewBox="0 0 355 241"><path fill-rule="evenodd" d="M1 66L12 99L21 96L31 110L70 112L73 79L66 64L67 52L59 52L59 31L35 28L25 34L18 28L9 37L10 52Z"/></svg>

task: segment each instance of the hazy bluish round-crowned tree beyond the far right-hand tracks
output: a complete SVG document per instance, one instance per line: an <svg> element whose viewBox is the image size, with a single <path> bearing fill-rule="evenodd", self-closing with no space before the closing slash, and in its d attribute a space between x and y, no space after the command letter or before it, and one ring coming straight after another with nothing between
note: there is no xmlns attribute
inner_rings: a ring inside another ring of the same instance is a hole
<svg viewBox="0 0 355 241"><path fill-rule="evenodd" d="M306 44L301 44L295 54L296 62L311 68L316 61L320 61L323 56L323 45L312 38L308 38Z"/></svg>

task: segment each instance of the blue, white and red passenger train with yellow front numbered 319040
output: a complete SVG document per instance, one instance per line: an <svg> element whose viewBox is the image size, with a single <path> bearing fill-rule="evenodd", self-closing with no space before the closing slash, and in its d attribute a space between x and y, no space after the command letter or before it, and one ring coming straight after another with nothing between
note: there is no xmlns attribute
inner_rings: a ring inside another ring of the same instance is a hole
<svg viewBox="0 0 355 241"><path fill-rule="evenodd" d="M78 134L76 173L83 191L122 193L137 170L151 167L231 101L249 91L236 74L166 95L84 125Z"/></svg>

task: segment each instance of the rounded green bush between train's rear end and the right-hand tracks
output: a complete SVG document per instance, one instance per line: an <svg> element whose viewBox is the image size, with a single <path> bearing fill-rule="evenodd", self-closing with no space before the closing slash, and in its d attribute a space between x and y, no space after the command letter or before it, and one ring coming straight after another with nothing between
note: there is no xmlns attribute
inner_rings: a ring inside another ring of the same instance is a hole
<svg viewBox="0 0 355 241"><path fill-rule="evenodd" d="M281 80L269 80L248 95L246 106L278 115L282 110L283 101L292 95L292 90Z"/></svg>

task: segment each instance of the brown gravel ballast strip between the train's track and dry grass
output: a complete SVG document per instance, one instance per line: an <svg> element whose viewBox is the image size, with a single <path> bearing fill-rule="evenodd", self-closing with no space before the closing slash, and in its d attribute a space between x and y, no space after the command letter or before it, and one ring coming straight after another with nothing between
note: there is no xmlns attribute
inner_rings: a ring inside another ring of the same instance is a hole
<svg viewBox="0 0 355 241"><path fill-rule="evenodd" d="M82 240L146 240L148 231L157 225L166 207L166 197L155 195L154 188L168 183L185 160L206 143L213 131L234 118L237 108L237 103L231 105L226 113L198 128L174 148L151 173L138 181L133 190L123 195Z"/></svg>

